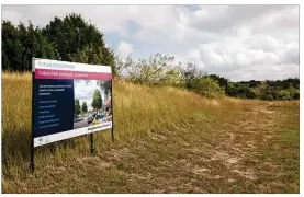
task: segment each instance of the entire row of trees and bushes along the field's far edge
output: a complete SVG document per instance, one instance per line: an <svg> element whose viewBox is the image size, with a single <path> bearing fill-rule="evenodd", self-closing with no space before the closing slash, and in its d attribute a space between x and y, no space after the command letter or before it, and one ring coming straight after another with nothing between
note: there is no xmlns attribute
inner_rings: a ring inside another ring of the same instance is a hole
<svg viewBox="0 0 304 197"><path fill-rule="evenodd" d="M156 54L149 58L117 57L105 46L95 25L80 14L71 13L55 18L44 27L20 23L13 25L2 21L2 69L5 71L30 71L32 57L63 61L108 65L115 78L149 85L171 85L194 91L209 97L234 96L259 100L297 100L297 78L277 81L240 81L216 74L207 74L196 65L174 65L174 57ZM100 82L108 95L109 81Z"/></svg>

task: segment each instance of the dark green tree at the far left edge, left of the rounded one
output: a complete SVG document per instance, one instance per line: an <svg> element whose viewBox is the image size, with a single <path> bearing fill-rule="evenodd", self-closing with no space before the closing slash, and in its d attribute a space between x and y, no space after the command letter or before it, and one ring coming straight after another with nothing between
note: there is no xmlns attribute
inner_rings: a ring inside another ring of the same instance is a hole
<svg viewBox="0 0 304 197"><path fill-rule="evenodd" d="M2 68L25 71L32 69L32 58L55 59L53 45L38 27L29 22L16 27L10 21L2 22Z"/></svg>

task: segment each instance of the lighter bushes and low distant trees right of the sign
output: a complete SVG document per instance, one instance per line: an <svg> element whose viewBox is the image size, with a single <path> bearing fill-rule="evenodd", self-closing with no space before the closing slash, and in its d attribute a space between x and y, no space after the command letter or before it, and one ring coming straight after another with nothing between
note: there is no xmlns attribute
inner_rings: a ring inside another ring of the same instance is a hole
<svg viewBox="0 0 304 197"><path fill-rule="evenodd" d="M134 60L128 56L116 61L116 74L134 83L173 85L188 89L207 97L233 96L258 100L299 100L300 79L275 81L233 82L217 74L207 74L196 65L173 65L174 57L157 54L147 59Z"/></svg>

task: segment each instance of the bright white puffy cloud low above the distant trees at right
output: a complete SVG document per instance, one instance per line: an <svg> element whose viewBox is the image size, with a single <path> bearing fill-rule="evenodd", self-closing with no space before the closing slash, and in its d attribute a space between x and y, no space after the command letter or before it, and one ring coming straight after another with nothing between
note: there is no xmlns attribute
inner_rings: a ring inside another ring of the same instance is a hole
<svg viewBox="0 0 304 197"><path fill-rule="evenodd" d="M235 81L299 76L299 44L271 36L225 38L199 45L180 56L209 73L227 76Z"/></svg>

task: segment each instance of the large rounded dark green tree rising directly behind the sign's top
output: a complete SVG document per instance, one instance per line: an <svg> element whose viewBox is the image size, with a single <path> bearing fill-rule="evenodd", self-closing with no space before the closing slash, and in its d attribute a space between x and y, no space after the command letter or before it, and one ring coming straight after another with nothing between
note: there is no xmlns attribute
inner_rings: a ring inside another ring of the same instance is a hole
<svg viewBox="0 0 304 197"><path fill-rule="evenodd" d="M103 34L81 14L56 16L43 28L43 34L54 45L58 60L114 67L114 53L105 47Z"/></svg>

